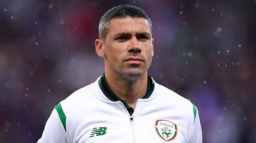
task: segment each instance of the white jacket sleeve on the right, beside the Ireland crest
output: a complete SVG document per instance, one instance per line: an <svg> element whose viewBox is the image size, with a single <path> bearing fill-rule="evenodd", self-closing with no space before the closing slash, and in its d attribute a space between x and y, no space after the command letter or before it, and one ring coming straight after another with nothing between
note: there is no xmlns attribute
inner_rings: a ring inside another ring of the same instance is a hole
<svg viewBox="0 0 256 143"><path fill-rule="evenodd" d="M192 126L192 130L188 136L187 143L202 143L202 128L199 119L199 114L197 108L193 104L193 112L194 112L194 124Z"/></svg>

